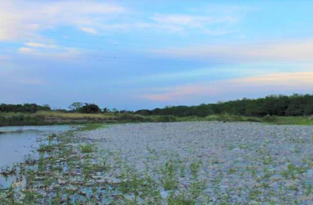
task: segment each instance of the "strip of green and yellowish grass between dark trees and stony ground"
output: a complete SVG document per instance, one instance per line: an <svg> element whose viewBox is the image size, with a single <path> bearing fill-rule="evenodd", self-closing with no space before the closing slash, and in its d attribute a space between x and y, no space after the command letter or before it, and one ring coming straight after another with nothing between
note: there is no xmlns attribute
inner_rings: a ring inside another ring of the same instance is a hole
<svg viewBox="0 0 313 205"><path fill-rule="evenodd" d="M206 117L188 116L141 116L132 113L64 113L56 111L39 111L37 113L0 113L0 126L50 125L50 124L84 124L84 123L137 123L137 122L258 122L269 124L313 125L311 116L265 116L247 117L241 115L216 114Z"/></svg>

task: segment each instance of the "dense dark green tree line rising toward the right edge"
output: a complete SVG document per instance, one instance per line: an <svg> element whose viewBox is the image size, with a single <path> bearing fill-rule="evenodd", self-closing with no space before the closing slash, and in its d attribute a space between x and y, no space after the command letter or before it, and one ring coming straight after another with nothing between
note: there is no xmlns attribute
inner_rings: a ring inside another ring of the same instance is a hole
<svg viewBox="0 0 313 205"><path fill-rule="evenodd" d="M138 110L141 115L173 115L177 117L205 117L214 114L233 114L244 116L311 116L313 115L313 95L293 94L269 95L258 99L201 104L198 106L166 106L153 110Z"/></svg>

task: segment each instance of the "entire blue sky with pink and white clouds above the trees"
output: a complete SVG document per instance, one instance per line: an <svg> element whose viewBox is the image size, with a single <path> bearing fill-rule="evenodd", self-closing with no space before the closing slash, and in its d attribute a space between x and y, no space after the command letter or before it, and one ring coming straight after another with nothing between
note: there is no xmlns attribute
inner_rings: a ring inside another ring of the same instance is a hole
<svg viewBox="0 0 313 205"><path fill-rule="evenodd" d="M313 1L0 0L0 103L137 110L313 90Z"/></svg>

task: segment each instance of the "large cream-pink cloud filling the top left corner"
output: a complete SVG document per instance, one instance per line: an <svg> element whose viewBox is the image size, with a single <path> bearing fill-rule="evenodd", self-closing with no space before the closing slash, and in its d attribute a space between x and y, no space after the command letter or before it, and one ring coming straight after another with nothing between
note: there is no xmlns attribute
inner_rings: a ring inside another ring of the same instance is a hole
<svg viewBox="0 0 313 205"><path fill-rule="evenodd" d="M124 12L122 6L100 1L1 1L0 41L26 39L25 35L35 40L38 31L56 26L91 28Z"/></svg>

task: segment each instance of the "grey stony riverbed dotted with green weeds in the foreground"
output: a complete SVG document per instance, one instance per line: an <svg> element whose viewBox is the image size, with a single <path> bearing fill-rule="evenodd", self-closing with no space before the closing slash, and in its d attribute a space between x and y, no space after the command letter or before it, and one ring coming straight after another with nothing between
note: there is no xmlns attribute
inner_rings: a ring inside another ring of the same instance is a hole
<svg viewBox="0 0 313 205"><path fill-rule="evenodd" d="M89 124L52 135L6 203L312 204L312 126L249 122Z"/></svg>

